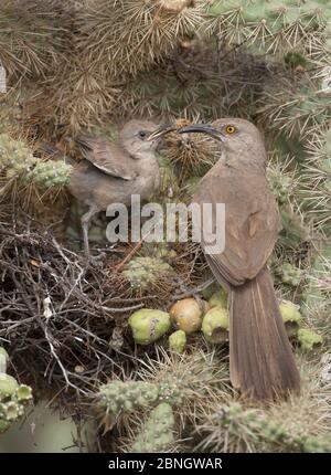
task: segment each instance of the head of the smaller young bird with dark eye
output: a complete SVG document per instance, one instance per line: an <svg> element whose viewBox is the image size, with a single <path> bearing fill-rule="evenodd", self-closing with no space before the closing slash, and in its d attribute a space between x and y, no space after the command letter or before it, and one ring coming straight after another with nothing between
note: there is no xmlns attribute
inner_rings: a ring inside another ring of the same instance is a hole
<svg viewBox="0 0 331 475"><path fill-rule="evenodd" d="M154 134L158 130L159 126L152 122L129 120L120 131L120 141L131 157L142 159L157 149L162 137Z"/></svg>

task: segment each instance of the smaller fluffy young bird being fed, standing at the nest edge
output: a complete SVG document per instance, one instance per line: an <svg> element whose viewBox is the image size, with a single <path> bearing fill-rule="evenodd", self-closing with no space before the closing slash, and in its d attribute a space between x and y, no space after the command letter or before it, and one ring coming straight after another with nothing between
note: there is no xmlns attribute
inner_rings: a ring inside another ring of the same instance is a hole
<svg viewBox="0 0 331 475"><path fill-rule="evenodd" d="M157 128L151 122L130 120L120 130L117 142L84 136L75 139L84 160L65 160L73 165L70 192L89 207L82 217L87 254L88 228L96 213L115 202L130 205L131 194L143 200L158 189L160 175L154 154L158 137L148 140Z"/></svg>

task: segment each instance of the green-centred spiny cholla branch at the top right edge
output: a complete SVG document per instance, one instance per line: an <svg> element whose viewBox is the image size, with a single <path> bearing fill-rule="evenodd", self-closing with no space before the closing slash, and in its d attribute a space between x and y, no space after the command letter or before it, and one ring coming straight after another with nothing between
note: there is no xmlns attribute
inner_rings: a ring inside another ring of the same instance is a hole
<svg viewBox="0 0 331 475"><path fill-rule="evenodd" d="M215 0L207 11L212 29L227 42L248 42L267 51L300 46L308 35L321 32L330 8L323 0Z"/></svg>

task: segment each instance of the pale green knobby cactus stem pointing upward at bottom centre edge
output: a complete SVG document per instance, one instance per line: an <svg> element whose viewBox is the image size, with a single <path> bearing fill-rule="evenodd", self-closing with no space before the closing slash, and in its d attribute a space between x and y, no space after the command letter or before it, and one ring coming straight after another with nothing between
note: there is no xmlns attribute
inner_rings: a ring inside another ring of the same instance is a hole
<svg viewBox="0 0 331 475"><path fill-rule="evenodd" d="M169 452L174 443L174 415L167 402L154 408L142 424L131 446L131 453Z"/></svg>

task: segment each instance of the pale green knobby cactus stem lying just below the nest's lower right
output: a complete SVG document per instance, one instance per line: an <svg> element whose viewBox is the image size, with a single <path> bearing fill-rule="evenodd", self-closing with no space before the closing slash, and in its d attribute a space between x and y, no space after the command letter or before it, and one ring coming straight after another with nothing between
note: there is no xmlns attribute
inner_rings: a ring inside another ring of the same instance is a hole
<svg viewBox="0 0 331 475"><path fill-rule="evenodd" d="M113 415L145 408L158 398L158 387L145 381L111 381L103 384L97 394L98 404Z"/></svg>

